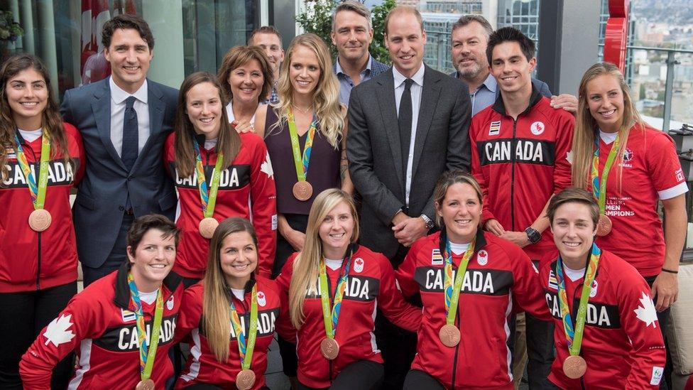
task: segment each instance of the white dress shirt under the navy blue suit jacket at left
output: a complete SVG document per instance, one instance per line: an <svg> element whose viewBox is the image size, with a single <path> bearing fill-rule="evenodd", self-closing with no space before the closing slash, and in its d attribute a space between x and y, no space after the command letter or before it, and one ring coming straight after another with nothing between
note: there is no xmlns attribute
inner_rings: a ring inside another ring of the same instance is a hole
<svg viewBox="0 0 693 390"><path fill-rule="evenodd" d="M113 77L109 77L109 86L111 87L111 143L116 148L118 156L122 156L125 100L128 97L134 96L136 100L133 108L137 113L137 153L140 153L151 133L149 129L149 106L147 105L149 91L147 89L147 79L144 79L142 86L133 94L125 92L116 85Z"/></svg>

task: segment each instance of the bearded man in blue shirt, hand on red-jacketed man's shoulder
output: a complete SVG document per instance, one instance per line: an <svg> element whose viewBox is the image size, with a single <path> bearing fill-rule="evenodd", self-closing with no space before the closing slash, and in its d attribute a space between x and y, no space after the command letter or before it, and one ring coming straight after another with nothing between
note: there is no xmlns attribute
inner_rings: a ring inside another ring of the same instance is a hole
<svg viewBox="0 0 693 390"><path fill-rule="evenodd" d="M466 82L471 99L471 115L496 101L498 84L489 72L486 60L486 46L493 27L481 15L464 15L452 25L452 63L457 71L450 75ZM577 112L577 98L571 94L552 96L549 86L540 80L532 79L539 92L551 99L551 106L567 112Z"/></svg>

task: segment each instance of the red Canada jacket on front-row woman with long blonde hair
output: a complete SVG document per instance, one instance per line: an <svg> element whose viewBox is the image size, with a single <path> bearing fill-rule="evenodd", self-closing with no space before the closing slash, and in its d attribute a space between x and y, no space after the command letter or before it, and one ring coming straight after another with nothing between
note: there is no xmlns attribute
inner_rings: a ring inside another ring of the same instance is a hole
<svg viewBox="0 0 693 390"><path fill-rule="evenodd" d="M292 254L286 261L277 283L288 294L293 261ZM344 267L344 264L342 264ZM343 268L342 268L343 269ZM342 270L327 267L327 286L330 303ZM326 337L322 320L320 283L306 292L303 301L304 323L296 336L298 354L298 380L310 387L329 387L337 374L348 364L358 360L382 363L376 336L373 335L377 308L395 325L415 332L421 320L421 310L405 302L395 286L395 276L390 261L370 249L359 246L351 258L351 269L339 312L339 322L334 339L339 344L337 359L329 361L320 352L320 342Z"/></svg>

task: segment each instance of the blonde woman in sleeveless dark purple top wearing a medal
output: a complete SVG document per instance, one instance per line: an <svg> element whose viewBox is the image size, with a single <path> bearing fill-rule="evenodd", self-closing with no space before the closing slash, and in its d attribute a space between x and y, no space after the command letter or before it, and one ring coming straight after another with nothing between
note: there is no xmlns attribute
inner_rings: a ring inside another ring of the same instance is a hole
<svg viewBox="0 0 693 390"><path fill-rule="evenodd" d="M278 96L278 104L258 109L255 123L267 144L277 184L280 234L274 275L293 251L302 249L315 196L327 188L353 192L344 154L346 108L339 104L329 50L315 34L291 41Z"/></svg>

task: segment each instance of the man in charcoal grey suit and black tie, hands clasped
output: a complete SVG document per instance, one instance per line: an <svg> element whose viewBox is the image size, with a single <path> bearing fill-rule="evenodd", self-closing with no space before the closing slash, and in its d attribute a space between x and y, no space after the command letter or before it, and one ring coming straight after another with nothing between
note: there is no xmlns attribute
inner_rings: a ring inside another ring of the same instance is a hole
<svg viewBox="0 0 693 390"><path fill-rule="evenodd" d="M421 15L398 6L386 18L393 68L354 87L346 155L363 195L361 244L395 268L408 247L434 227L435 183L445 170L469 170L469 94L463 82L423 64ZM401 389L415 354L415 335L378 315L378 348L386 389Z"/></svg>

